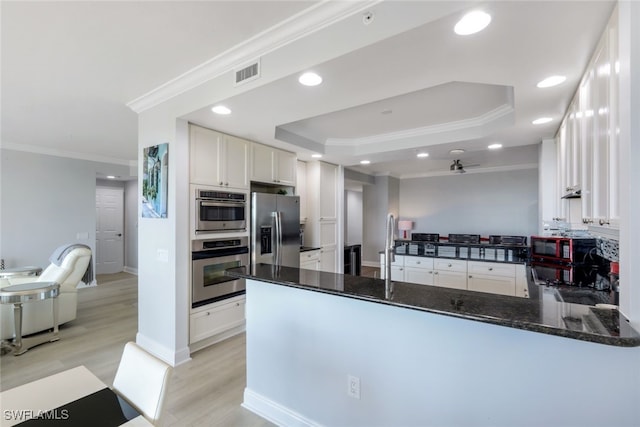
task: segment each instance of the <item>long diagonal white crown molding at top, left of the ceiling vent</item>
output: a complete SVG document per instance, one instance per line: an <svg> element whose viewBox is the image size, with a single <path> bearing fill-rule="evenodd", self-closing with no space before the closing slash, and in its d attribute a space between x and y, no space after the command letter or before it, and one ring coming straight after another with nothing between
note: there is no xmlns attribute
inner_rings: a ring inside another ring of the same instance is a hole
<svg viewBox="0 0 640 427"><path fill-rule="evenodd" d="M127 106L141 113L381 1L323 0L128 102Z"/></svg>

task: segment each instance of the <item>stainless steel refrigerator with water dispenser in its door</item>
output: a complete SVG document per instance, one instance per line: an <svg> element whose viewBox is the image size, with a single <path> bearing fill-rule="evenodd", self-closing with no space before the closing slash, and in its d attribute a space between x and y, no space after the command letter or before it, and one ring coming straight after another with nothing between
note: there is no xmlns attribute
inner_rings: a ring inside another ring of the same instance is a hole
<svg viewBox="0 0 640 427"><path fill-rule="evenodd" d="M251 271L256 264L300 266L300 198L251 193Z"/></svg>

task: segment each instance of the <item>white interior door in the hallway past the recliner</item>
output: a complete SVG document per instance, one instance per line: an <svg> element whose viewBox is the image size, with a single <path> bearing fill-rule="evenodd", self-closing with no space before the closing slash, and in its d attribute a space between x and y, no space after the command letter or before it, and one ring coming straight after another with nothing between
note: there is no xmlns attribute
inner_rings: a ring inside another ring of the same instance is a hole
<svg viewBox="0 0 640 427"><path fill-rule="evenodd" d="M96 188L96 274L124 270L124 189Z"/></svg>

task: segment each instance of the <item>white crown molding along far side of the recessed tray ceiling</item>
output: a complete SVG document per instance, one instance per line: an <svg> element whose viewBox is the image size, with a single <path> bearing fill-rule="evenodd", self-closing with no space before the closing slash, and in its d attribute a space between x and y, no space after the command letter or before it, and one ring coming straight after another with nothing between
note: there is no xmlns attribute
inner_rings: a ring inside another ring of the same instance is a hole
<svg viewBox="0 0 640 427"><path fill-rule="evenodd" d="M437 135L448 132L458 132L461 130L486 126L493 121L503 118L514 112L512 105L503 104L481 116L471 119L458 120L455 122L441 123L437 125L423 126L419 128L406 129L398 132L389 132L379 135L366 136L363 138L327 138L326 146L358 147L369 144L379 144L400 139L417 138L427 135ZM423 141L424 145L424 141Z"/></svg>

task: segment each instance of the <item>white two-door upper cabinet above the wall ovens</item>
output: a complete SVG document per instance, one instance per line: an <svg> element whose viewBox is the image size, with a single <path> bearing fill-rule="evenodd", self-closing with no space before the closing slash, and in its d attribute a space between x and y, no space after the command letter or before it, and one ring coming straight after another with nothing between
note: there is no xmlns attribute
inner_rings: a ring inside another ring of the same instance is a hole
<svg viewBox="0 0 640 427"><path fill-rule="evenodd" d="M190 182L249 188L249 141L190 125Z"/></svg>

